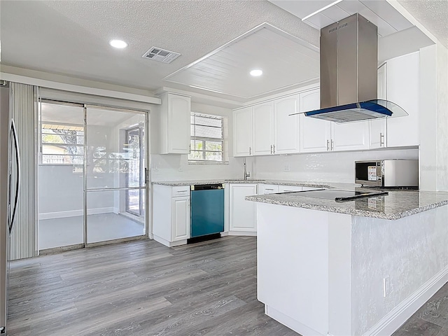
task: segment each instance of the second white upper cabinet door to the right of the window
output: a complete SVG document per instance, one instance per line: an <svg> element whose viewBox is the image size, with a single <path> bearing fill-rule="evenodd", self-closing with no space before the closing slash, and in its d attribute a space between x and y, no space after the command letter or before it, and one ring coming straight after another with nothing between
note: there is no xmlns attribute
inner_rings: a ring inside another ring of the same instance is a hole
<svg viewBox="0 0 448 336"><path fill-rule="evenodd" d="M273 154L274 147L274 102L252 107L253 111L253 155Z"/></svg>

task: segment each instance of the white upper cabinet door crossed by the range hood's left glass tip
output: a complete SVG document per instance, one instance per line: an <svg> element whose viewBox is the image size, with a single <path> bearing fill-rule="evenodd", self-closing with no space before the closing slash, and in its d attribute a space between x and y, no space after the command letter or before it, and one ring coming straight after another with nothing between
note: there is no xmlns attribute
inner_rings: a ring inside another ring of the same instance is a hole
<svg viewBox="0 0 448 336"><path fill-rule="evenodd" d="M300 94L300 112L314 111L321 106L318 89ZM331 123L327 120L300 115L300 151L330 151Z"/></svg>

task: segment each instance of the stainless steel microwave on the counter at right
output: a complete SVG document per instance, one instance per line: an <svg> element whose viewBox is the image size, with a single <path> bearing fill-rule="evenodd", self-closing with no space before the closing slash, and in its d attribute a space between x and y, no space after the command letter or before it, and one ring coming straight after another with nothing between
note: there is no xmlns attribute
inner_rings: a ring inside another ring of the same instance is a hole
<svg viewBox="0 0 448 336"><path fill-rule="evenodd" d="M355 183L377 187L418 187L419 160L355 162Z"/></svg>

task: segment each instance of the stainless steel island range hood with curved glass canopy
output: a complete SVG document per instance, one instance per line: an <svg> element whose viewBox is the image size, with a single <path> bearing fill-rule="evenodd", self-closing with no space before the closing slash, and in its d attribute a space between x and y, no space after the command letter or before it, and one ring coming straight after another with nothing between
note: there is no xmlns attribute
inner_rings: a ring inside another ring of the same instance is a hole
<svg viewBox="0 0 448 336"><path fill-rule="evenodd" d="M321 29L321 109L305 116L348 123L407 116L377 99L377 26L358 13Z"/></svg>

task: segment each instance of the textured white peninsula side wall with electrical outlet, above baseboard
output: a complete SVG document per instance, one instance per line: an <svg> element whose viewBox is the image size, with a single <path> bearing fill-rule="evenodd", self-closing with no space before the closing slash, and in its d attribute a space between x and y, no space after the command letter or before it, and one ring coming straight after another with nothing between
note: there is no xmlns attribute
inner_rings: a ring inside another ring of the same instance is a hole
<svg viewBox="0 0 448 336"><path fill-rule="evenodd" d="M448 269L448 206L396 221L353 216L351 236L353 335L370 335L375 323Z"/></svg>

